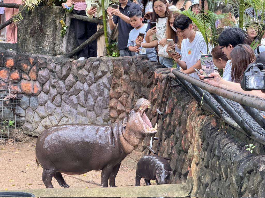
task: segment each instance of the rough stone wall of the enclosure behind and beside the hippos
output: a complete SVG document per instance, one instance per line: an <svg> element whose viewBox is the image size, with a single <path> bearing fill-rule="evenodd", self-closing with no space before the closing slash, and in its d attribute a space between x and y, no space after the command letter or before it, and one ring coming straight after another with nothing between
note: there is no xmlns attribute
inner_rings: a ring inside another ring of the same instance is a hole
<svg viewBox="0 0 265 198"><path fill-rule="evenodd" d="M78 61L13 50L1 53L0 66L0 78L21 82L17 121L33 136L57 124L119 121L141 97L151 102L147 116L154 126L169 72L145 56ZM148 153L149 142L128 157L132 163ZM257 145L253 154L244 148L249 143ZM186 183L191 196L264 196L263 153L262 145L200 109L182 87L170 89L159 155L171 158L172 183Z"/></svg>

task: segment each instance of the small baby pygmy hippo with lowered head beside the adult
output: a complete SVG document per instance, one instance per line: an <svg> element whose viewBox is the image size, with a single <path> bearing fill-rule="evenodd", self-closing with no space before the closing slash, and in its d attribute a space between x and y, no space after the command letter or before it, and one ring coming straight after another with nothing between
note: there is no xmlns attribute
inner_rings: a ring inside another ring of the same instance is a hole
<svg viewBox="0 0 265 198"><path fill-rule="evenodd" d="M135 173L135 186L140 186L142 177L146 185L151 185L150 180L156 180L157 184L168 184L172 170L163 157L145 155L139 159Z"/></svg>

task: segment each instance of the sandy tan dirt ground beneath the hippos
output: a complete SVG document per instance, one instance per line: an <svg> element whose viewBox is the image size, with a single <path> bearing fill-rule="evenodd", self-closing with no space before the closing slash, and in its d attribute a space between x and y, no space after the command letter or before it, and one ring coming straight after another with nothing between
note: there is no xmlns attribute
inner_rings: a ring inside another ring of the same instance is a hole
<svg viewBox="0 0 265 198"><path fill-rule="evenodd" d="M0 190L45 188L41 180L42 168L38 168L35 161L35 144L36 140L13 145L0 144ZM118 187L135 185L135 169L125 164L126 161L122 162L116 177ZM90 171L84 175L62 175L70 188L100 187L101 171ZM55 188L62 188L55 178L52 179L52 184ZM145 185L143 178L141 185Z"/></svg>

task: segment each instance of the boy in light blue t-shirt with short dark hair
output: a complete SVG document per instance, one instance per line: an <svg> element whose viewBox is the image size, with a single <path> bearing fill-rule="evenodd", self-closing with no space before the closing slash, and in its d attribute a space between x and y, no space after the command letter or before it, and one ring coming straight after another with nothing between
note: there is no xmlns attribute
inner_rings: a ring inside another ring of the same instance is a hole
<svg viewBox="0 0 265 198"><path fill-rule="evenodd" d="M157 55L155 48L141 48L138 47L135 43L135 40L138 38L139 33L143 33L144 36L146 34L145 30L147 28L147 24L142 23L143 21L142 12L133 9L130 12L129 18L131 26L133 26L134 29L130 31L127 47L132 52L132 55L145 55L148 56L149 60L157 62ZM145 42L145 40L143 42Z"/></svg>

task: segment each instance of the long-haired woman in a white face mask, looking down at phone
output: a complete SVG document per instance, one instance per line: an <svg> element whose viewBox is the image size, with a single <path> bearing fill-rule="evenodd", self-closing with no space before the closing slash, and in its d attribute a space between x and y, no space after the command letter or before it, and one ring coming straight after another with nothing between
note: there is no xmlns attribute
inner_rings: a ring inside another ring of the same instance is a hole
<svg viewBox="0 0 265 198"><path fill-rule="evenodd" d="M181 55L181 42L183 40L182 36L178 36L178 32L173 26L175 18L179 17L178 12L171 12L167 18L167 28L166 28L166 39L173 39L175 41L174 45L167 45L167 53L172 58L172 54L168 52L168 50L175 50L177 53ZM179 67L179 65L177 65Z"/></svg>

